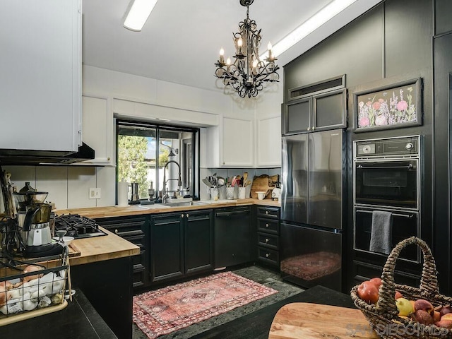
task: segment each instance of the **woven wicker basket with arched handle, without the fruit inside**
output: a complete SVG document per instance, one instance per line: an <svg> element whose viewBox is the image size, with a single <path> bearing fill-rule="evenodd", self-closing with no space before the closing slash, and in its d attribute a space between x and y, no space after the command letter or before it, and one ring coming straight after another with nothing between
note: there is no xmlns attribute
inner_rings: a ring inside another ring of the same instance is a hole
<svg viewBox="0 0 452 339"><path fill-rule="evenodd" d="M422 277L420 287L410 287L394 283L394 267L400 251L410 244L416 244L422 249L424 263L422 266ZM410 339L410 338L452 338L452 331L435 325L424 325L417 321L401 318L398 316L396 290L403 297L411 300L426 299L434 307L452 304L452 298L439 294L438 280L436 278L436 265L429 246L417 237L410 237L399 242L389 254L381 274L381 286L379 299L376 304L368 304L357 295L359 285L352 288L350 296L356 307L362 311L371 328L385 339Z"/></svg>

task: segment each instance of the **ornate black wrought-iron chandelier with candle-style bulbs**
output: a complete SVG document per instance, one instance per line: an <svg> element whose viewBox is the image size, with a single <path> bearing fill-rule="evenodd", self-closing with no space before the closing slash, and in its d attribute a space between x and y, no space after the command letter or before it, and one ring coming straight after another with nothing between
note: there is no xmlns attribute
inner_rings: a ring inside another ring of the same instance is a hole
<svg viewBox="0 0 452 339"><path fill-rule="evenodd" d="M256 97L264 83L279 81L280 76L276 73L279 67L275 65L277 59L273 57L270 42L268 57L265 61L259 59L261 30L257 30L256 21L249 18L249 5L254 0L239 1L242 6L246 6L246 19L239 23L239 32L233 33L235 60L231 63L231 59L227 58L225 62L225 51L220 49L215 76L222 79L226 86L234 88L240 97Z"/></svg>

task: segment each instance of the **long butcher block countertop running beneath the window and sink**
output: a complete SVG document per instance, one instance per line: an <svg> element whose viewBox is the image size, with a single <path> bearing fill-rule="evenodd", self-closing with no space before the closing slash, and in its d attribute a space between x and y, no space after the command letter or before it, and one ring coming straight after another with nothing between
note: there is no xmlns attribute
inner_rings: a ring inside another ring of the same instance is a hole
<svg viewBox="0 0 452 339"><path fill-rule="evenodd" d="M205 203L201 206L174 206L174 207L162 207L162 208L149 208L153 205L129 205L125 207L119 206L105 206L105 207L89 207L89 208L69 208L66 210L55 210L57 215L61 214L79 214L87 218L110 218L110 217L124 217L127 215L141 215L141 214L155 214L155 213L169 213L177 212L179 210L204 210L208 208L222 208L222 207L234 207L234 206L247 206L247 205L260 205L260 206L273 206L279 207L280 202L273 201L271 199L258 200L254 198L237 199L237 201L231 201L227 203ZM78 246L77 246L78 247Z"/></svg>

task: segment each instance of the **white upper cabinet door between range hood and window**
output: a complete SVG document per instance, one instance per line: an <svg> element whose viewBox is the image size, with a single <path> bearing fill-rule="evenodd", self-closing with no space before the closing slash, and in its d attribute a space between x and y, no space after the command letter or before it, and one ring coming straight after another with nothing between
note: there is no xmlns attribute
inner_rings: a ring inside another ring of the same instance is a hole
<svg viewBox="0 0 452 339"><path fill-rule="evenodd" d="M83 95L83 142L95 150L93 160L73 165L114 165L113 114L109 100L102 97Z"/></svg>

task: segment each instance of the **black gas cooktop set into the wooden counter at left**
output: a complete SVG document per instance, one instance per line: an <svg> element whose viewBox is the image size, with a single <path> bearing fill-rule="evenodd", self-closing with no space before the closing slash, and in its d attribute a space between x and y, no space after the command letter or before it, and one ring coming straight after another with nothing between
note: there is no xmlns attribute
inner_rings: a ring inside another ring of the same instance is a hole
<svg viewBox="0 0 452 339"><path fill-rule="evenodd" d="M63 214L55 217L55 231L65 230L66 236L75 239L107 235L99 229L95 220L78 214Z"/></svg>

